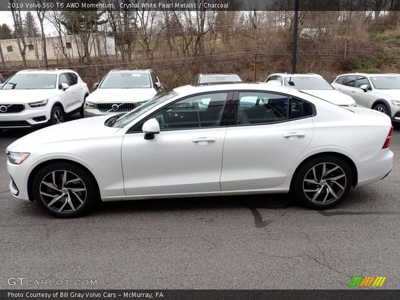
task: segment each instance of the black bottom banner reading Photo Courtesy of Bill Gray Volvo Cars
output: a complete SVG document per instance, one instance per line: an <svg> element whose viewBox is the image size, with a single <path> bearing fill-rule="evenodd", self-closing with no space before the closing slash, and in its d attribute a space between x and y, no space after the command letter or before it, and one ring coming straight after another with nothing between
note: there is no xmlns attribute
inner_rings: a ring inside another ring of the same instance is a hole
<svg viewBox="0 0 400 300"><path fill-rule="evenodd" d="M123 290L123 289L99 289L99 290L0 290L1 300L258 300L258 299L285 299L285 300L391 300L399 299L400 290L372 288L348 288L341 290L265 290L265 289L148 289L148 290Z"/></svg>

